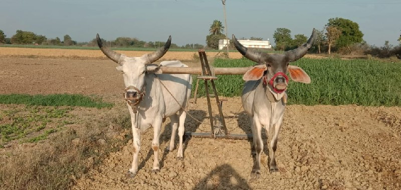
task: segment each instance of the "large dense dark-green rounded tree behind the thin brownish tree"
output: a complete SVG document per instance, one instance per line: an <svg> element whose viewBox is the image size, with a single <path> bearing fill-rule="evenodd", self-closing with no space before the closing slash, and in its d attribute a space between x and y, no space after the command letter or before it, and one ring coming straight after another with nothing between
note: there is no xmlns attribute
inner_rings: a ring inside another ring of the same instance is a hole
<svg viewBox="0 0 401 190"><path fill-rule="evenodd" d="M352 20L345 18L330 18L327 26L335 26L337 29L341 30L341 36L336 40L338 47L347 46L353 43L362 42L363 33L359 30L359 25Z"/></svg>

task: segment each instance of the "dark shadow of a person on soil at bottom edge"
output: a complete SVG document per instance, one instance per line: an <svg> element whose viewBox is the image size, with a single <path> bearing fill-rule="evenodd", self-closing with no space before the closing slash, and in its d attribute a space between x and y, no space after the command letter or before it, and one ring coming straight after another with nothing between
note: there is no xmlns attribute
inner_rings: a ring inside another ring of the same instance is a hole
<svg viewBox="0 0 401 190"><path fill-rule="evenodd" d="M251 189L251 187L230 164L225 163L215 167L192 189Z"/></svg>

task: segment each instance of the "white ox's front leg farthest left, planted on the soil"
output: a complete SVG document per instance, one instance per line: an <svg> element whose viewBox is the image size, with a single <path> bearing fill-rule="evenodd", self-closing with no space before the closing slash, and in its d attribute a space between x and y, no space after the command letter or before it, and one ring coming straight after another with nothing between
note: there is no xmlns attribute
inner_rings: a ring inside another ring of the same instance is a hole
<svg viewBox="0 0 401 190"><path fill-rule="evenodd" d="M129 107L129 106L128 106ZM136 172L138 171L138 155L139 155L139 150L141 149L141 131L139 128L136 128L136 123L135 123L135 115L132 113L131 107L129 107L130 113L131 113L131 126L132 126L132 145L133 145L133 159L132 159L132 164L131 168L128 170L126 176L127 177L134 177L136 175Z"/></svg>

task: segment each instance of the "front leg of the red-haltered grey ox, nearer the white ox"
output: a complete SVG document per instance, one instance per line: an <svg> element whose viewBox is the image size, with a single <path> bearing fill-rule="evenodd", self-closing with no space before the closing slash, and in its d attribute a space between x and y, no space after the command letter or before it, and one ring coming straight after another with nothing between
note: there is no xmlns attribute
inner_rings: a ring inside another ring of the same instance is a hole
<svg viewBox="0 0 401 190"><path fill-rule="evenodd" d="M259 119L255 115L252 119L254 122L254 133L253 138L255 139L255 149L256 149L256 161L254 167L252 168L251 177L259 178L260 177L260 156L263 151L263 141L262 141L262 124L259 122Z"/></svg>

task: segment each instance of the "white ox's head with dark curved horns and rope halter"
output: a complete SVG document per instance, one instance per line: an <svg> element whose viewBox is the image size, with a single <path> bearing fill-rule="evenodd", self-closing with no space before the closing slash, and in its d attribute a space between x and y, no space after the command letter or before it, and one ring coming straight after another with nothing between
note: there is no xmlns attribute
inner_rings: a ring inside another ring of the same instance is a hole
<svg viewBox="0 0 401 190"><path fill-rule="evenodd" d="M145 74L161 73L158 65L151 63L162 57L167 52L171 44L171 36L168 37L168 40L163 47L153 53L144 54L140 57L128 57L104 47L99 34L96 35L96 39L102 52L108 58L119 64L116 68L122 72L124 78L124 98L131 105L136 105L144 95L146 86Z"/></svg>

